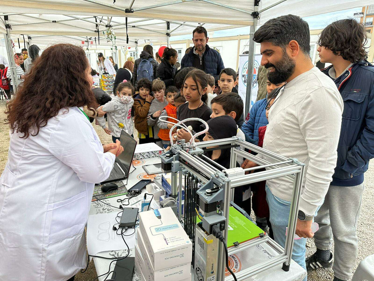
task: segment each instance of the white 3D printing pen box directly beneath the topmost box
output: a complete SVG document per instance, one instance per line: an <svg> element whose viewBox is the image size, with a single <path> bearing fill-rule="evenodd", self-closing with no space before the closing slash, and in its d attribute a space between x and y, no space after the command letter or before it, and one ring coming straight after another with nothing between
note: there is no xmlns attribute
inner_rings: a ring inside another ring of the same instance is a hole
<svg viewBox="0 0 374 281"><path fill-rule="evenodd" d="M150 265L147 251L141 238L138 238L138 244L135 245L135 263L138 271L144 275L148 281L178 281L191 278L191 263L173 266L171 268L154 271Z"/></svg>

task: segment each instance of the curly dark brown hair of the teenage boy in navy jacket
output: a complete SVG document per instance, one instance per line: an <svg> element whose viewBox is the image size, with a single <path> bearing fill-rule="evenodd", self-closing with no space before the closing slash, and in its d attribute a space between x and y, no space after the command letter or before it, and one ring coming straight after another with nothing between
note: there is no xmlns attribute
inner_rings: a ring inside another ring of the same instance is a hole
<svg viewBox="0 0 374 281"><path fill-rule="evenodd" d="M341 55L344 60L355 63L367 57L364 47L367 41L362 23L355 19L340 19L322 30L317 44L331 50L334 55Z"/></svg>

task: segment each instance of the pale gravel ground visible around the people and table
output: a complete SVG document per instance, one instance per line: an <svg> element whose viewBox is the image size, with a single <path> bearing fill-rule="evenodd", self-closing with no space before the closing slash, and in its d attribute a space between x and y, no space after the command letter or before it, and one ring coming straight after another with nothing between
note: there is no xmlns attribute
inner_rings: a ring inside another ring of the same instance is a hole
<svg viewBox="0 0 374 281"><path fill-rule="evenodd" d="M5 102L0 101L0 120L4 120L5 114ZM9 147L9 127L8 125L0 125L0 170L3 171L7 157L8 157L8 147ZM111 136L105 134L101 127L93 125L102 143L111 142ZM137 132L134 132L134 136L137 136ZM136 138L136 137L135 137ZM374 220L372 219L373 211L373 200L374 200L374 162L371 161L368 171L365 173L365 190L362 197L362 207L361 214L358 221L358 256L356 259L356 264L353 268L353 272L365 257L374 254ZM309 247L308 247L309 246ZM308 239L307 242L307 256L313 254L316 248L313 243L313 239ZM96 271L93 262L90 262L88 270L85 274L77 274L75 280L77 281L87 281L95 278ZM319 271L314 271L308 274L308 281L322 281L322 280L332 280L333 279L332 269L320 269Z"/></svg>

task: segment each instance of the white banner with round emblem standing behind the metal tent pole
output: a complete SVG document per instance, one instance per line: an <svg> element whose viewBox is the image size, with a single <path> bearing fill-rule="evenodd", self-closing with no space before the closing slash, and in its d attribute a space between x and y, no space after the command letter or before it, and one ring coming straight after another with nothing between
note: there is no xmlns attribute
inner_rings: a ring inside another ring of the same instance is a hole
<svg viewBox="0 0 374 281"><path fill-rule="evenodd" d="M251 105L249 106L249 109L252 107L252 105L255 103L257 98L257 73L258 73L258 67L261 63L261 55L255 55L255 60L253 64L253 77L251 79L252 83L252 96L251 96ZM246 104L246 90L247 90L247 79L248 78L248 55L239 55L239 87L238 92L240 97L242 97L244 104Z"/></svg>

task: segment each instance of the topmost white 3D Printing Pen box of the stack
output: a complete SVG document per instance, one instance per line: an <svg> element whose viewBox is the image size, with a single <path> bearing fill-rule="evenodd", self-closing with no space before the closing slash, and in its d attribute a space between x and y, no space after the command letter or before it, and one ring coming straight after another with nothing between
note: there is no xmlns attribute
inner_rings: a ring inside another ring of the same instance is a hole
<svg viewBox="0 0 374 281"><path fill-rule="evenodd" d="M191 263L192 243L170 207L139 213L139 230L154 270Z"/></svg>

